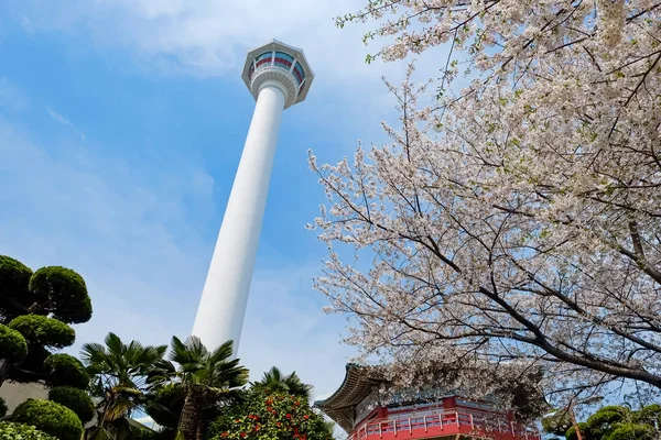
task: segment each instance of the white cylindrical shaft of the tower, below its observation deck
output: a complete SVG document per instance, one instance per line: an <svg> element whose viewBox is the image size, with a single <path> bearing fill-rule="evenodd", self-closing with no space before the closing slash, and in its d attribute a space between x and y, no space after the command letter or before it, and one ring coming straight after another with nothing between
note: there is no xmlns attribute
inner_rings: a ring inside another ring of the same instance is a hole
<svg viewBox="0 0 661 440"><path fill-rule="evenodd" d="M274 82L259 91L193 334L214 350L234 341L236 356L269 193L285 96Z"/></svg>

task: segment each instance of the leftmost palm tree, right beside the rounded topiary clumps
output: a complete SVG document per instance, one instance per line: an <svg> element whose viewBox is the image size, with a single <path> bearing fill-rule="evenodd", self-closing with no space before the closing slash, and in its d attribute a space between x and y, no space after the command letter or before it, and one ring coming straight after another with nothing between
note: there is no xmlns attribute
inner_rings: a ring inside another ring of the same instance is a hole
<svg viewBox="0 0 661 440"><path fill-rule="evenodd" d="M97 426L89 435L99 438L130 425L127 419L147 402L147 376L167 350L166 345L144 346L138 341L126 344L115 333L108 333L104 342L80 349L80 359L93 376L91 394L99 398Z"/></svg>

